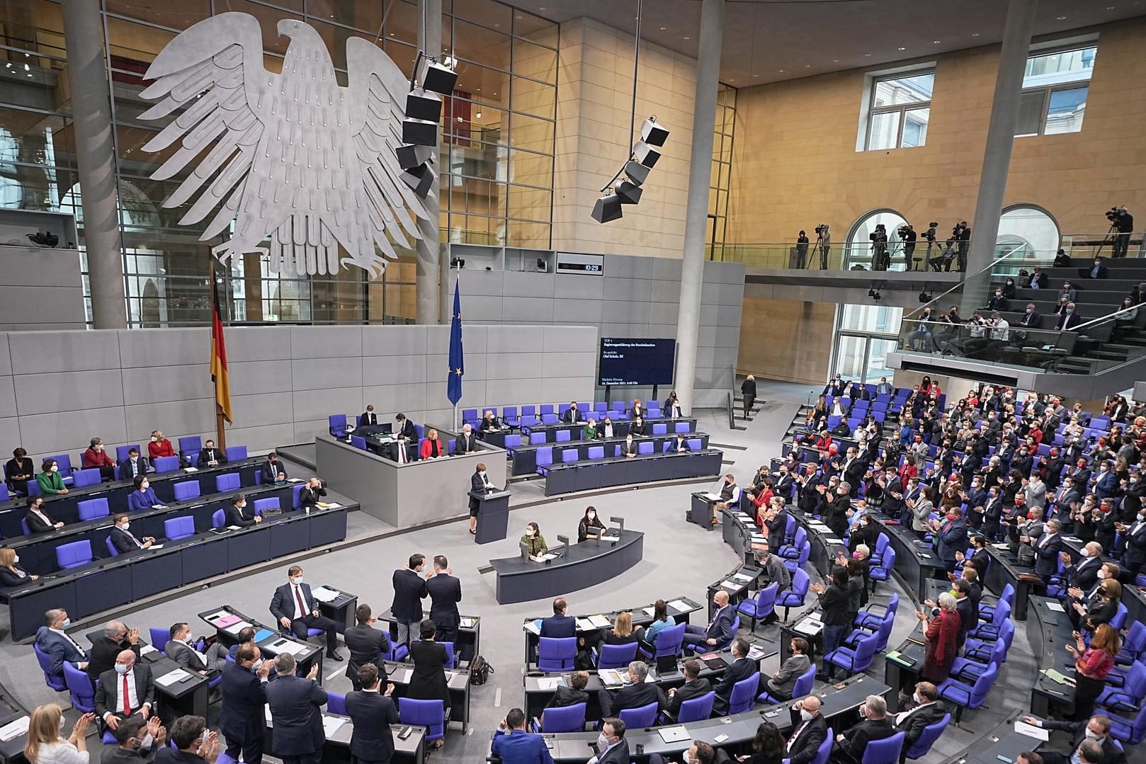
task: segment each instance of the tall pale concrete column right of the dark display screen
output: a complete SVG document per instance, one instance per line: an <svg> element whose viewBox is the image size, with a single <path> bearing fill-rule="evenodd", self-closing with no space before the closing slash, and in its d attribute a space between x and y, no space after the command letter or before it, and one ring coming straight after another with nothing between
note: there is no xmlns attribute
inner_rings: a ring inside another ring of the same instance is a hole
<svg viewBox="0 0 1146 764"><path fill-rule="evenodd" d="M700 54L697 60L697 99L692 113L689 196L684 212L681 306L676 320L675 387L684 412L692 410L692 391L697 383L700 285L704 281L705 241L708 236L708 186L712 180L716 89L720 85L723 34L724 0L704 0L700 6Z"/></svg>

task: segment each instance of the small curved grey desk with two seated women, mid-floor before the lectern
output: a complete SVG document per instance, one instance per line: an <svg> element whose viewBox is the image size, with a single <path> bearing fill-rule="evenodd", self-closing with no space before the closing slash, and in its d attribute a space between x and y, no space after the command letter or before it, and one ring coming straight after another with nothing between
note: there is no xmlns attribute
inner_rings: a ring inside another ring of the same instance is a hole
<svg viewBox="0 0 1146 764"><path fill-rule="evenodd" d="M615 578L642 560L643 533L617 528L607 533L618 541L601 538L571 544L558 550L560 557L547 562L533 562L521 556L489 560L497 575L497 602L552 599L588 589Z"/></svg>

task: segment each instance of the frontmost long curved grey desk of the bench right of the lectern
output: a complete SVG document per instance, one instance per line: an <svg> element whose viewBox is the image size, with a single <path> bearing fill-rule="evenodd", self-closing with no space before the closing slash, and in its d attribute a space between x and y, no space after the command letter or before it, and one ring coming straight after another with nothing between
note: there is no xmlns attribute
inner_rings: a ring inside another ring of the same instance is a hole
<svg viewBox="0 0 1146 764"><path fill-rule="evenodd" d="M545 468L545 496L658 480L715 476L720 474L723 458L722 451L709 448L688 452L614 456L566 464L555 462Z"/></svg>

